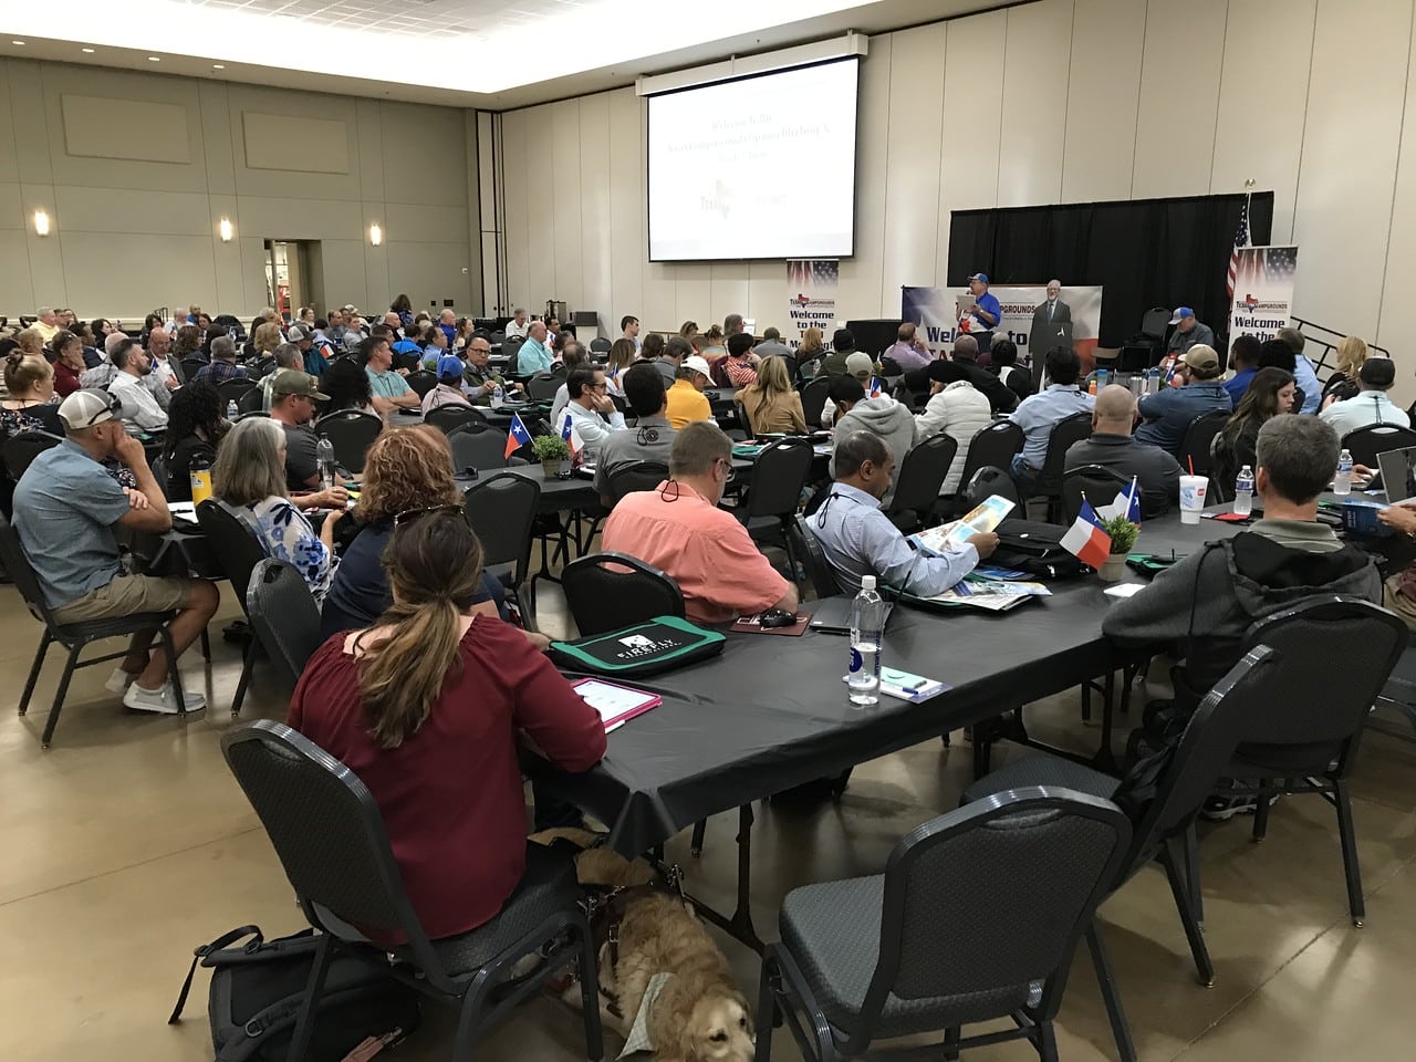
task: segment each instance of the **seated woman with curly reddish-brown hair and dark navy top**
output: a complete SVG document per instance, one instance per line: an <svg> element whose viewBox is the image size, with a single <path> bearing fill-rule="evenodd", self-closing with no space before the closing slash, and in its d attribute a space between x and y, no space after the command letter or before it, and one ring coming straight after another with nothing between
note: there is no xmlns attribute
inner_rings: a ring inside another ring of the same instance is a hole
<svg viewBox="0 0 1416 1062"><path fill-rule="evenodd" d="M368 447L362 490L354 518L360 524L334 582L324 596L320 629L324 637L340 630L368 627L394 605L382 556L394 537L399 513L433 508L462 508L463 493L453 479L447 436L436 428L395 428ZM473 612L506 619L504 592L497 578L481 573L481 588L473 596ZM539 649L547 639L525 632Z"/></svg>

